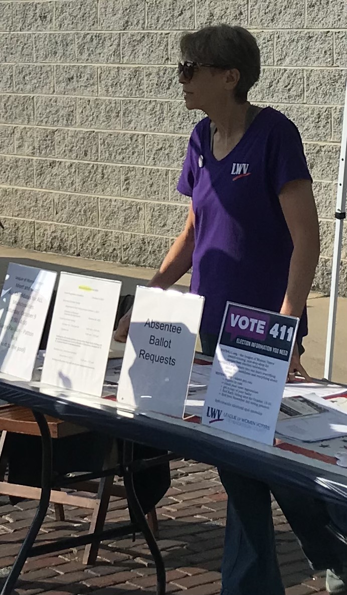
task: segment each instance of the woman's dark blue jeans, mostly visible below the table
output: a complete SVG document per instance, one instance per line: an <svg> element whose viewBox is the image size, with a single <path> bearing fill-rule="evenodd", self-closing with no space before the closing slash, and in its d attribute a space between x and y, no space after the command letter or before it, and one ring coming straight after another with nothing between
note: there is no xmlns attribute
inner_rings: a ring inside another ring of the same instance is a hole
<svg viewBox="0 0 347 595"><path fill-rule="evenodd" d="M214 355L217 337L201 335L202 351ZM299 346L300 347L300 346ZM312 569L342 574L347 546L327 525L333 520L347 534L346 509L283 486L268 486L218 469L228 494L221 595L284 595L277 562L271 492L282 509Z"/></svg>

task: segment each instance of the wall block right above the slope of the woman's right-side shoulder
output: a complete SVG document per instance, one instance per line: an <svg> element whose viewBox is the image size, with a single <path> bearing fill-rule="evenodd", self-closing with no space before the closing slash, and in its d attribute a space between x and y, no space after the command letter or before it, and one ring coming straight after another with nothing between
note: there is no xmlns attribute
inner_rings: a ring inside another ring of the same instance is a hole
<svg viewBox="0 0 347 595"><path fill-rule="evenodd" d="M298 127L303 140L329 141L332 138L331 108L311 105L273 105Z"/></svg>

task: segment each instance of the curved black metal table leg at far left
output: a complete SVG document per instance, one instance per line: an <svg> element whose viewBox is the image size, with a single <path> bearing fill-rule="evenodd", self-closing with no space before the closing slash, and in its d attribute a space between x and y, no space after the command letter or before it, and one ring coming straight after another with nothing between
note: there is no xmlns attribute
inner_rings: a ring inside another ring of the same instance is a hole
<svg viewBox="0 0 347 595"><path fill-rule="evenodd" d="M17 578L21 573L21 569L26 562L30 549L36 539L37 533L41 528L43 520L49 506L49 499L51 496L52 486L52 439L49 433L48 424L44 415L33 412L37 425L39 425L42 441L42 475L41 475L41 497L39 506L37 506L35 517L30 525L26 538L23 541L21 549L17 555L14 565L11 568L4 587L2 587L1 595L10 595L14 589Z"/></svg>

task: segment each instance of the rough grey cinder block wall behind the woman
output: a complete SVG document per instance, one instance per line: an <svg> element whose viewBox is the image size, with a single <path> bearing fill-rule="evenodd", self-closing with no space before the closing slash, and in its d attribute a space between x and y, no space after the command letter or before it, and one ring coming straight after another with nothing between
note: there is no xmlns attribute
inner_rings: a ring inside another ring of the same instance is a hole
<svg viewBox="0 0 347 595"><path fill-rule="evenodd" d="M157 267L182 229L187 137L182 30L225 21L257 37L251 99L292 118L321 218L329 290L347 70L346 0L0 1L2 245ZM347 293L347 242L342 293Z"/></svg>

